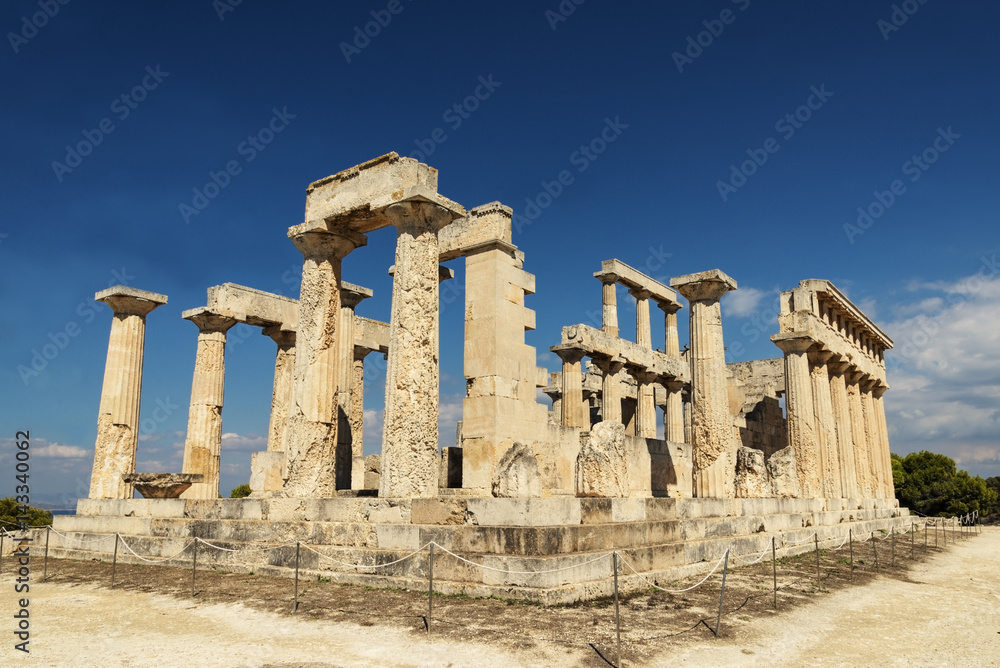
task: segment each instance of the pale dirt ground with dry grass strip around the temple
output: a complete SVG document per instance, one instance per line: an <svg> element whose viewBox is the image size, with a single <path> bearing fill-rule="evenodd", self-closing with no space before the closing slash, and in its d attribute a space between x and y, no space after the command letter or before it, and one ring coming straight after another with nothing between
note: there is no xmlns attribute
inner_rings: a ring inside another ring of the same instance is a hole
<svg viewBox="0 0 1000 668"><path fill-rule="evenodd" d="M928 547L923 534L855 543L730 568L720 637L720 577L697 589L650 589L622 599L622 659L630 666L1000 666L1000 528ZM9 541L6 551L9 552ZM913 558L911 559L911 549ZM37 550L37 548L36 548ZM542 608L497 599L259 575L50 560L41 581L35 552L31 654L13 649L17 598L5 555L0 573L0 665L226 666L608 666L616 661L613 601ZM738 563L738 562L737 562ZM732 566L732 562L731 562ZM687 587L698 578L659 584ZM4 628L8 627L8 628ZM711 627L711 628L710 628Z"/></svg>

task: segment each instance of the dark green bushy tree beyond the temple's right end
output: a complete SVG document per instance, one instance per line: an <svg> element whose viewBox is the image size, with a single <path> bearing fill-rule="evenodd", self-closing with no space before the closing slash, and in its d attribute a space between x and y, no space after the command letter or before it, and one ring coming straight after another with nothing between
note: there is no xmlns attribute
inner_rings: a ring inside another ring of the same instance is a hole
<svg viewBox="0 0 1000 668"><path fill-rule="evenodd" d="M997 490L981 477L959 471L950 457L923 450L892 455L892 460L896 498L922 515L985 514L997 503Z"/></svg>

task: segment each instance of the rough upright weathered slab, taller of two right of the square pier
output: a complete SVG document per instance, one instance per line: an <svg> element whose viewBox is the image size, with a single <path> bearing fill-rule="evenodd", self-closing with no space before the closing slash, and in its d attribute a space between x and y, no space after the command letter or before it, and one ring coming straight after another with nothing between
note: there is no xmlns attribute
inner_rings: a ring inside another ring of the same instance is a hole
<svg viewBox="0 0 1000 668"><path fill-rule="evenodd" d="M576 495L603 498L629 495L629 453L625 425L599 422L576 458Z"/></svg>

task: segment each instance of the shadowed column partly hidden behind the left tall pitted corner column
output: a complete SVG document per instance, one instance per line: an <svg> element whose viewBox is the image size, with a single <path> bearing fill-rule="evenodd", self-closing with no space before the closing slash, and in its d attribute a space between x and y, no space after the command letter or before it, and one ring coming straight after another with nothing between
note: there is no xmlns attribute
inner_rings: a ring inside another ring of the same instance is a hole
<svg viewBox="0 0 1000 668"><path fill-rule="evenodd" d="M337 489L351 489L354 440L360 438L351 428L354 402L354 310L372 291L359 285L340 284L340 333L337 335L337 456L334 468Z"/></svg>

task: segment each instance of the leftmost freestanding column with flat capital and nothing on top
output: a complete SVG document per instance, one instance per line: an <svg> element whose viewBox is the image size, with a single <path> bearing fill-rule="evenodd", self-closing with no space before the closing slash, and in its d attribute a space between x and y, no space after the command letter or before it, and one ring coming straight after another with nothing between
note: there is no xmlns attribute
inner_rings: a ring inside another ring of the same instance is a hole
<svg viewBox="0 0 1000 668"><path fill-rule="evenodd" d="M111 307L112 320L97 411L90 498L131 499L133 487L122 476L135 473L146 316L166 304L167 298L119 285L98 292L94 299Z"/></svg>

